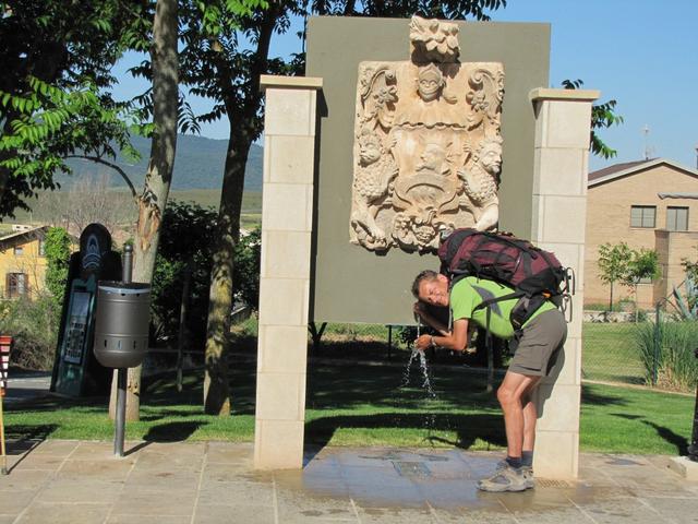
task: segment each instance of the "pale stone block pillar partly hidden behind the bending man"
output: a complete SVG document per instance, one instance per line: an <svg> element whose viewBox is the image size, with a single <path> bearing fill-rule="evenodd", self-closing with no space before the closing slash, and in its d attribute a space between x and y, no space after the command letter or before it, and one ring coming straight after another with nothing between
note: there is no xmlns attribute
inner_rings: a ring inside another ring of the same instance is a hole
<svg viewBox="0 0 698 524"><path fill-rule="evenodd" d="M573 267L576 277L564 355L535 394L533 469L543 478L571 479L578 473L589 132L591 104L599 94L549 88L530 93L535 111L531 239Z"/></svg>

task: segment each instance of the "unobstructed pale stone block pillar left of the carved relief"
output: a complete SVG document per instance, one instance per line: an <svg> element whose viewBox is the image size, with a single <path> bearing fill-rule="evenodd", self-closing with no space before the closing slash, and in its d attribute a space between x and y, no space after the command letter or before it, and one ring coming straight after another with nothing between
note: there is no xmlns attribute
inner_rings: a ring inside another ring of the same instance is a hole
<svg viewBox="0 0 698 524"><path fill-rule="evenodd" d="M322 79L262 76L264 186L254 467L301 468L313 218L315 106Z"/></svg>

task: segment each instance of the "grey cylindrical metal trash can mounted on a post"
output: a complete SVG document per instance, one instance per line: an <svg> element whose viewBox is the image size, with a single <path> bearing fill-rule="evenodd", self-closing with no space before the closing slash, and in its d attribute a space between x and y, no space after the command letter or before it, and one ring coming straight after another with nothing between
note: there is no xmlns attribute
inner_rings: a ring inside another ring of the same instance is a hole
<svg viewBox="0 0 698 524"><path fill-rule="evenodd" d="M108 368L134 368L148 348L151 286L101 281L97 286L95 357Z"/></svg>

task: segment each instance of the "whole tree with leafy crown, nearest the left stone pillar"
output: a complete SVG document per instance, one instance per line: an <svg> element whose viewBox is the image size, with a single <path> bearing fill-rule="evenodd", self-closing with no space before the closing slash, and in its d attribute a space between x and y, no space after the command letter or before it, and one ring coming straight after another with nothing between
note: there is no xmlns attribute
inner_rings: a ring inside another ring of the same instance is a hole
<svg viewBox="0 0 698 524"><path fill-rule="evenodd" d="M230 0L184 2L181 26L182 82L198 96L214 100L214 108L198 117L212 121L227 116L230 121L228 152L224 168L218 213L217 243L213 254L209 312L206 342L204 407L206 413L229 415L226 333L234 295L233 252L239 241L244 166L250 145L262 132L261 74L297 74L304 57L288 62L269 57L274 33L285 33L290 17L309 14L353 16L410 16L421 12L440 19L476 17L488 20L485 10L506 5L505 0L460 0L446 2L378 2L320 0L316 2L277 0L261 9L250 1L251 14L241 12Z"/></svg>

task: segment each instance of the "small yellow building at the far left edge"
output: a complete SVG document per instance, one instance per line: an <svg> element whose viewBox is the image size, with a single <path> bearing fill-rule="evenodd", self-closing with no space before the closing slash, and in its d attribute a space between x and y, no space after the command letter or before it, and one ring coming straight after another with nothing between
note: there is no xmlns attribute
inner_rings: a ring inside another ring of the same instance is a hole
<svg viewBox="0 0 698 524"><path fill-rule="evenodd" d="M32 296L46 283L45 238L48 226L0 238L0 298Z"/></svg>

